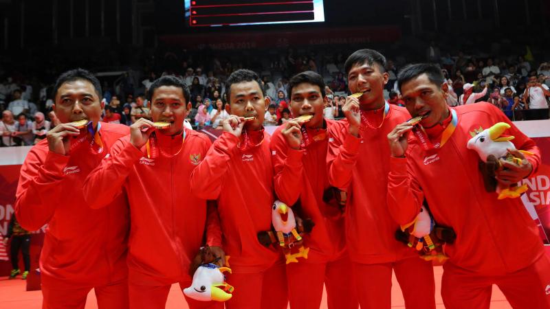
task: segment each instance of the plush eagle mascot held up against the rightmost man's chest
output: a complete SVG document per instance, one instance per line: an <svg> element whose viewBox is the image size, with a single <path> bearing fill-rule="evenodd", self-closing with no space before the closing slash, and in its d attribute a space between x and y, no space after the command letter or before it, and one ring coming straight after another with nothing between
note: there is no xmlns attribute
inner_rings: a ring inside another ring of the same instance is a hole
<svg viewBox="0 0 550 309"><path fill-rule="evenodd" d="M488 192L496 191L498 199L517 198L523 192L527 191L527 185L511 185L505 187L497 184L494 178L494 172L501 167L499 159L521 164L521 159L514 157L508 150L516 150L511 140L513 136L503 137L503 133L510 125L505 122L498 122L491 128L483 130L479 128L475 132L470 133L472 138L468 141L467 148L475 150L483 165L480 165L480 170L485 181L485 189ZM524 155L533 155L531 152L519 150Z"/></svg>

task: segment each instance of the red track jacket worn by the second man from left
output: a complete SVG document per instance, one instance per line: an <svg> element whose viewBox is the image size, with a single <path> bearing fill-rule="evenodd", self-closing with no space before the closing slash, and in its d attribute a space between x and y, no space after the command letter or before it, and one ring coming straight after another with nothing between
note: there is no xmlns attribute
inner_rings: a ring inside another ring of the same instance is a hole
<svg viewBox="0 0 550 309"><path fill-rule="evenodd" d="M117 141L84 189L92 208L104 207L116 196L128 199L129 282L145 286L190 280L189 264L201 246L206 222L206 201L191 194L189 176L206 155L210 139L186 130L183 149L174 157L162 152L177 152L181 135L157 134L157 139L155 159L147 158L145 146L140 150L130 144L129 135ZM210 228L216 229L215 222ZM220 237L210 238L210 245L219 245Z"/></svg>

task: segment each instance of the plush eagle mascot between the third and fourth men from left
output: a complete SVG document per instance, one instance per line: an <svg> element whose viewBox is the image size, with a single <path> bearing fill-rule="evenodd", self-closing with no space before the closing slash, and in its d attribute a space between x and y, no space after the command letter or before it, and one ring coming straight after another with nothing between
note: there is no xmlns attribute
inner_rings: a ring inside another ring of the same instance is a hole
<svg viewBox="0 0 550 309"><path fill-rule="evenodd" d="M307 253L309 253L309 248L304 247L301 234L304 231L311 231L313 223L304 222L297 227L296 222L301 223L301 219L294 217L292 208L281 201L275 201L272 207L273 231L258 233L258 240L265 247L276 244L283 249L287 264L297 263L298 258L307 259Z"/></svg>

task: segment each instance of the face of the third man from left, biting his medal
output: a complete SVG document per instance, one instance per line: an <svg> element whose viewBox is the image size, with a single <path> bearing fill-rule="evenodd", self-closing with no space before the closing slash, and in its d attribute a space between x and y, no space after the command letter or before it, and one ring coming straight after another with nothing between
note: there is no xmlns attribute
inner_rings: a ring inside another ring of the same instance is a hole
<svg viewBox="0 0 550 309"><path fill-rule="evenodd" d="M263 98L260 85L252 80L232 84L230 88L230 111L239 117L256 117L246 122L249 130L259 130L263 124L265 109L270 105L269 98Z"/></svg>

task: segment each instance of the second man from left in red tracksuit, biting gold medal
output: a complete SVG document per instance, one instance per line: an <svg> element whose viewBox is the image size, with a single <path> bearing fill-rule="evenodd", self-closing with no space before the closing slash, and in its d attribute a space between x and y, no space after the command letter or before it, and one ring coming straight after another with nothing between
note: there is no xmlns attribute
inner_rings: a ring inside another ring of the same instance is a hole
<svg viewBox="0 0 550 309"><path fill-rule="evenodd" d="M164 308L172 284L191 284L190 262L202 244L207 207L206 200L191 194L189 176L211 144L205 135L184 128L190 95L183 80L163 76L149 91L153 120L168 122L168 128L155 130L150 120L137 120L84 187L94 209L109 208L104 206L113 198L129 201L130 308L144 309ZM208 244L219 246L219 222L215 212L209 216L214 223L208 226ZM190 308L223 308L216 301L186 301Z"/></svg>

